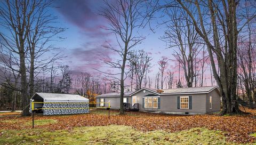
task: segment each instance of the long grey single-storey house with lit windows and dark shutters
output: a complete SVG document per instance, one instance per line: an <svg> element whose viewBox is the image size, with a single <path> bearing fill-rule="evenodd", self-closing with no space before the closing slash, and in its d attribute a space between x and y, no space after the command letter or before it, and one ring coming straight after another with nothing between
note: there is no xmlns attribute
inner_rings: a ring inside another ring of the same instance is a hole
<svg viewBox="0 0 256 145"><path fill-rule="evenodd" d="M98 95L98 107L110 102L111 109L119 109L120 94ZM167 114L207 114L220 111L221 96L217 86L172 88L156 90L143 87L124 94L124 105L139 111Z"/></svg>

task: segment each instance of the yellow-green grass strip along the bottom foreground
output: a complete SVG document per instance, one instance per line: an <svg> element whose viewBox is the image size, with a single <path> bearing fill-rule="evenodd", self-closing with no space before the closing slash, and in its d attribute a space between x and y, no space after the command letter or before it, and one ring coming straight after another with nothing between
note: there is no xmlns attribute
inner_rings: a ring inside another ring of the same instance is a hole
<svg viewBox="0 0 256 145"><path fill-rule="evenodd" d="M73 131L4 130L3 144L231 144L220 131L192 128L188 131L141 132L130 126L76 127Z"/></svg>

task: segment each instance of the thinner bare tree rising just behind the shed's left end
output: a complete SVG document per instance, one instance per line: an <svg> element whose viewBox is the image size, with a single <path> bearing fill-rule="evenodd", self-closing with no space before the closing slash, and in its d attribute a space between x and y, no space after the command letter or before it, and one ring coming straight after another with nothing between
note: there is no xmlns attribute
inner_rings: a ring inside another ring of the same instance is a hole
<svg viewBox="0 0 256 145"><path fill-rule="evenodd" d="M37 1L35 12L31 15L31 23L29 24L29 31L27 35L27 44L29 53L27 59L29 62L29 94L33 96L34 90L34 78L37 74L46 69L50 69L50 63L62 58L59 53L54 54L53 57L47 57L46 53L55 51L55 48L50 42L53 41L53 37L63 32L61 27L55 27L53 23L56 23L57 17L53 17L49 13L49 7L52 6L52 0L49 1ZM45 55L46 54L46 55ZM49 67L48 67L49 66Z"/></svg>

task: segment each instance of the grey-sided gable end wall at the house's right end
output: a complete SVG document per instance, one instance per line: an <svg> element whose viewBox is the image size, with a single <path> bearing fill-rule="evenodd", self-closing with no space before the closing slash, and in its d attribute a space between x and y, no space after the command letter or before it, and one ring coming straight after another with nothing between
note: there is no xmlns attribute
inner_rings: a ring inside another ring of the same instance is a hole
<svg viewBox="0 0 256 145"><path fill-rule="evenodd" d="M212 96L212 109L210 109L210 96ZM213 91L206 95L206 112L217 112L220 111L220 94L218 89L215 88Z"/></svg>

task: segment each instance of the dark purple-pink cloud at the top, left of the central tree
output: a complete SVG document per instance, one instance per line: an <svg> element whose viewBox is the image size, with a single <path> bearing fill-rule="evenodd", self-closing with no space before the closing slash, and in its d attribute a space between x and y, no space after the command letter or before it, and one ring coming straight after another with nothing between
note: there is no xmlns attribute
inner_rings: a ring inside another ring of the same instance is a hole
<svg viewBox="0 0 256 145"><path fill-rule="evenodd" d="M66 0L57 1L56 4L59 6L57 11L68 22L81 29L82 34L89 34L90 37L107 35L102 29L102 23L106 23L106 20L98 14L101 1Z"/></svg>

